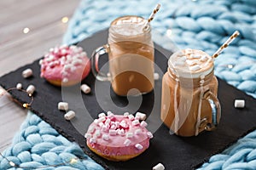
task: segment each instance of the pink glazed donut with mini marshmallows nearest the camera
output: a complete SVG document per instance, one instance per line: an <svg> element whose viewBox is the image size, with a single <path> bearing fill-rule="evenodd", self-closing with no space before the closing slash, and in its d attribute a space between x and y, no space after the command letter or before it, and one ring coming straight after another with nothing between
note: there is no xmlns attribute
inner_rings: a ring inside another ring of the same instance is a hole
<svg viewBox="0 0 256 170"><path fill-rule="evenodd" d="M97 155L109 161L127 161L148 149L149 139L146 122L132 115L113 115L108 111L92 122L84 137L87 146Z"/></svg>

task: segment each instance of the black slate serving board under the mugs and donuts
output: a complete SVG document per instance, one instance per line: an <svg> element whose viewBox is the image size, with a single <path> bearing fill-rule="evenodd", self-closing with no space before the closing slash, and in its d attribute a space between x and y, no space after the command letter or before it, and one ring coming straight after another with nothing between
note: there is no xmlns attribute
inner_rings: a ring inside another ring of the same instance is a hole
<svg viewBox="0 0 256 170"><path fill-rule="evenodd" d="M79 46L91 54L93 49L107 42L107 37L108 31L100 31L93 37L79 42ZM162 76L162 72L166 71L167 58L172 53L160 48L157 44L155 47L155 63L160 67L156 71ZM102 63L106 61L106 58L103 57ZM26 68L32 68L33 77L29 79L21 77L21 71ZM92 89L90 95L81 94L79 85L70 88L54 87L40 78L39 74L38 60L36 60L30 65L25 65L1 77L0 85L8 89L15 87L17 82L22 82L25 88L29 84L34 84L37 91L34 94L31 110L45 122L49 122L67 139L77 142L87 155L106 169L146 170L152 169L159 162L162 162L168 170L193 169L256 127L256 100L222 80L218 80L218 99L222 106L222 117L218 129L213 132L201 133L197 137L182 138L170 135L168 128L160 122L161 80L155 82L154 92L143 95L143 97L126 99L113 94L109 82L99 83L91 73L83 81L90 85ZM97 98L95 85L97 92L100 92L100 97ZM27 99L26 96L17 91L11 91L10 94L20 103ZM108 97L108 94L111 97ZM245 99L246 108L235 109L233 106L235 99ZM67 122L63 118L64 113L57 109L57 103L62 100L67 101L70 108L77 113L72 122ZM142 100L142 104L137 105L140 100ZM141 156L125 162L107 161L92 153L85 144L84 133L92 122L92 118L96 118L97 114L102 111L113 111L117 114L122 114L124 111L146 112L148 114L148 128L154 132L154 139L151 139L148 150Z"/></svg>

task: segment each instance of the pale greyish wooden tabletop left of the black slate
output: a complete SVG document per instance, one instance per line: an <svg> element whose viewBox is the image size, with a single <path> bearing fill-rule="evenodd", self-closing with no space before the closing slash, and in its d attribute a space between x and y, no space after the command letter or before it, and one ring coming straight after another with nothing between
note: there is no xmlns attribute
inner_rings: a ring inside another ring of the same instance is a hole
<svg viewBox="0 0 256 170"><path fill-rule="evenodd" d="M0 1L0 77L60 44L67 30L61 19L72 17L78 5L79 0ZM0 151L11 144L26 112L8 95L0 98Z"/></svg>

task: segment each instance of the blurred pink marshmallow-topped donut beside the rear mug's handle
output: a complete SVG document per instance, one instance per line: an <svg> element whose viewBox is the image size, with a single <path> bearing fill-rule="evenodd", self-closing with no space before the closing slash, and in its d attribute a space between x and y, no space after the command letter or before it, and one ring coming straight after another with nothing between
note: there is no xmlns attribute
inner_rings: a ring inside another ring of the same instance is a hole
<svg viewBox="0 0 256 170"><path fill-rule="evenodd" d="M74 45L50 48L39 64L41 77L55 86L72 86L90 72L90 59L83 48Z"/></svg>

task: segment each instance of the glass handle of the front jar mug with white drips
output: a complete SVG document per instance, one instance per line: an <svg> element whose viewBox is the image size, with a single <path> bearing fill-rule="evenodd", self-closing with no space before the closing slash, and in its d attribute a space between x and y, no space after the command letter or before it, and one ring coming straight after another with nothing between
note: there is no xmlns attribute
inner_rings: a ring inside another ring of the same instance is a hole
<svg viewBox="0 0 256 170"><path fill-rule="evenodd" d="M218 102L217 97L212 94L212 92L208 89L203 95L204 99L207 99L209 105L212 109L212 122L209 122L207 118L203 118L201 120L201 126L204 127L207 131L212 131L218 126L218 122L221 116L221 108Z"/></svg>

